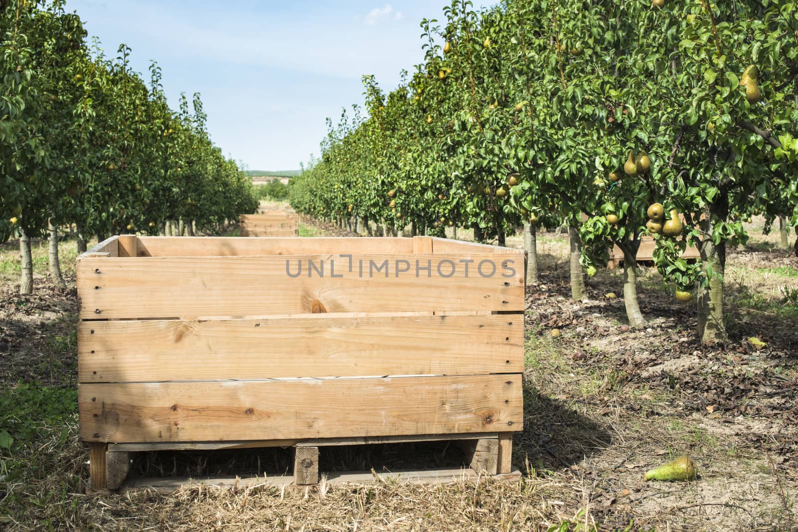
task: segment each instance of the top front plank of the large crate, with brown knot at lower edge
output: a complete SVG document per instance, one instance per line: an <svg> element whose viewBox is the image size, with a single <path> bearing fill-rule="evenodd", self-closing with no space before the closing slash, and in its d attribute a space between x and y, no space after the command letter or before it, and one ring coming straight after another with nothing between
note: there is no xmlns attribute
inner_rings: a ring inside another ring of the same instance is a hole
<svg viewBox="0 0 798 532"><path fill-rule="evenodd" d="M243 318L305 314L319 306L327 312L523 311L523 288L523 260L493 254L85 258L77 264L81 319Z"/></svg>

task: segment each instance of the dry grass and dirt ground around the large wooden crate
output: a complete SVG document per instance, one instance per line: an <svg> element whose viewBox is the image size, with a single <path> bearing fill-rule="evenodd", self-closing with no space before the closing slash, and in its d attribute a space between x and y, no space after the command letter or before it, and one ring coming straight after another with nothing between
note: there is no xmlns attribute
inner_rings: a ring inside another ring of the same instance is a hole
<svg viewBox="0 0 798 532"><path fill-rule="evenodd" d="M654 268L641 271L644 329L626 326L622 299L606 297L622 295L620 270L599 272L589 299L572 301L566 237L539 236L513 453L520 480L101 497L84 495L88 452L77 442L74 243L63 243L65 288L44 275L46 248L36 250L33 296L17 294L17 251L0 244L0 430L18 435L10 448L0 439L0 529L798 530L798 258L757 221L750 229L748 247L728 259L732 338L715 347L697 342L694 304L677 303ZM695 481L643 481L680 455L697 463ZM386 445L322 459L328 470L393 471L463 456L445 444ZM289 463L282 449L150 453L134 475L263 475Z"/></svg>

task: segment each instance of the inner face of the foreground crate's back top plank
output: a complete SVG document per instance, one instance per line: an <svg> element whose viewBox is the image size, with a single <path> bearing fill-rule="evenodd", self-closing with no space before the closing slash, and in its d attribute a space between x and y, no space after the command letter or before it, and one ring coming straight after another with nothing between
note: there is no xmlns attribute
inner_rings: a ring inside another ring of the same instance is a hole
<svg viewBox="0 0 798 532"><path fill-rule="evenodd" d="M264 256L413 253L412 238L139 237L139 256Z"/></svg>

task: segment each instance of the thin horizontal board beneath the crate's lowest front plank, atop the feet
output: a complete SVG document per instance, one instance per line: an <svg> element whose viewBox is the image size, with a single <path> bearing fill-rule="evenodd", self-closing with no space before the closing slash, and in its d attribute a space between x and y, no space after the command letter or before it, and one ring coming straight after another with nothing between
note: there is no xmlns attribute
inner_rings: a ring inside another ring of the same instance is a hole
<svg viewBox="0 0 798 532"><path fill-rule="evenodd" d="M467 432L459 434L412 434L409 436L350 436L346 438L311 438L310 440L254 440L254 441L154 441L134 444L108 444L112 452L148 451L217 451L219 449L251 449L267 447L337 447L341 445L410 444L440 440L480 440L498 438L498 432Z"/></svg>

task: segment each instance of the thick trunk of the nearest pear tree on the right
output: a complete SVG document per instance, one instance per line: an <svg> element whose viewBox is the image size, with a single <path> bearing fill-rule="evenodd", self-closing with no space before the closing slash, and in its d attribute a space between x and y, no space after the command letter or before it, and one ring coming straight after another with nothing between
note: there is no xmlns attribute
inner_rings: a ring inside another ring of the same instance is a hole
<svg viewBox="0 0 798 532"><path fill-rule="evenodd" d="M704 237L699 245L698 251L701 253L701 262L704 265L704 272L707 268L712 268L712 279L709 280L709 288L701 287L698 290L698 336L701 342L713 344L716 342L726 342L729 334L726 332L725 316L723 315L723 275L726 265L726 243L721 241L717 246L712 240L713 217L725 221L729 214L728 205L723 201L721 204L709 204L709 216L703 222Z"/></svg>

